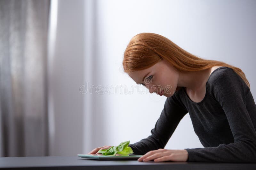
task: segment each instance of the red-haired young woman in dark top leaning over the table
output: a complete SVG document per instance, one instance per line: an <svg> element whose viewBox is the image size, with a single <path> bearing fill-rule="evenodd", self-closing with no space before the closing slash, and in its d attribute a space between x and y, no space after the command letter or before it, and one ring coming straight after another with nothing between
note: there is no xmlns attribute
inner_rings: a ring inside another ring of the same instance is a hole
<svg viewBox="0 0 256 170"><path fill-rule="evenodd" d="M241 69L198 58L155 33L131 39L123 67L150 93L167 97L151 135L129 145L143 155L139 161L256 162L256 105ZM187 113L204 148L164 149Z"/></svg>

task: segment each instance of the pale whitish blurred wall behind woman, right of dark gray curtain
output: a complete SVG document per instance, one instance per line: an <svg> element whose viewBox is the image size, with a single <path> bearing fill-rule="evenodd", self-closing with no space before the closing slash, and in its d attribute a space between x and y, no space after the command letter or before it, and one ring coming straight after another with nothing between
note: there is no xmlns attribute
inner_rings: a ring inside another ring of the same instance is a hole
<svg viewBox="0 0 256 170"><path fill-rule="evenodd" d="M253 0L53 0L50 156L86 154L95 147L135 143L150 135L166 97L146 88L143 92L122 71L124 50L141 32L161 34L198 57L241 68L255 98L255 9ZM83 94L86 83L94 86L92 93ZM95 91L97 86L102 94ZM107 93L106 87L114 92ZM165 148L197 147L203 146L187 114Z"/></svg>

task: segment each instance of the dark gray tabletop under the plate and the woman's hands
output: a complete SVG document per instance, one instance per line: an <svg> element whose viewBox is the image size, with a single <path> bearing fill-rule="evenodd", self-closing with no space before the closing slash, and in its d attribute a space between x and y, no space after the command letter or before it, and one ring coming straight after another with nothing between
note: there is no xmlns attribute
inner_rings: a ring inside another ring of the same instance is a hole
<svg viewBox="0 0 256 170"><path fill-rule="evenodd" d="M78 156L48 157L2 157L0 169L100 169L100 170L179 170L179 169L256 169L254 163L211 163L211 162L138 162L137 160L91 160Z"/></svg>

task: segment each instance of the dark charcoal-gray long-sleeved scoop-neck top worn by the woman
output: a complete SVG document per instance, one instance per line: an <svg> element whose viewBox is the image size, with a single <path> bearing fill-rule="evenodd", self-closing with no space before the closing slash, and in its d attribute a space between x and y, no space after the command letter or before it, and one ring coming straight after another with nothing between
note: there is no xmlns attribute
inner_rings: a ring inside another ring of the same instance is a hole
<svg viewBox="0 0 256 170"><path fill-rule="evenodd" d="M189 98L184 87L167 97L151 135L129 145L134 154L164 148L189 113L204 146L185 149L189 162L256 162L256 105L249 87L229 67L215 69L205 87L199 103Z"/></svg>

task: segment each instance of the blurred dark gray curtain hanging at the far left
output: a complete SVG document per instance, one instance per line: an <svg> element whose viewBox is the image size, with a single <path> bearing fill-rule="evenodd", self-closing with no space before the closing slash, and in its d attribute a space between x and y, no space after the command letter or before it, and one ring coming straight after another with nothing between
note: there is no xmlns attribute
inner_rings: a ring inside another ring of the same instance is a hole
<svg viewBox="0 0 256 170"><path fill-rule="evenodd" d="M0 1L0 156L47 156L50 0Z"/></svg>

